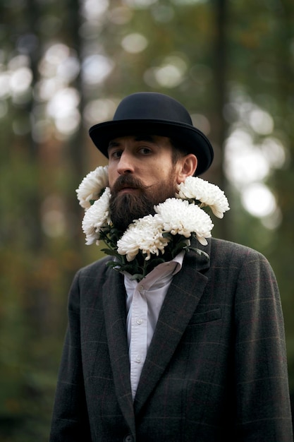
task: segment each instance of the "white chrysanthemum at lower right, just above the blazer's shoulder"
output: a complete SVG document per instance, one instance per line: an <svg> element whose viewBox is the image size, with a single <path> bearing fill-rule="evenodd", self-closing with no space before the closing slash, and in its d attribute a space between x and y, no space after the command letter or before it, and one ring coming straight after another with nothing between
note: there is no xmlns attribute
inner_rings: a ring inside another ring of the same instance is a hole
<svg viewBox="0 0 294 442"><path fill-rule="evenodd" d="M155 206L165 232L183 235L189 238L195 232L198 241L207 245L206 238L212 236L212 220L198 205L189 204L176 198L169 198L164 203Z"/></svg>

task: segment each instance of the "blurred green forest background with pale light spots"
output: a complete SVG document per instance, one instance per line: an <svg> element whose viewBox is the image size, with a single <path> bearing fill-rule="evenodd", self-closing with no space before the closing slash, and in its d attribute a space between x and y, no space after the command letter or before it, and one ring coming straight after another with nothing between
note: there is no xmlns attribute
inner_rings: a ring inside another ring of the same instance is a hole
<svg viewBox="0 0 294 442"><path fill-rule="evenodd" d="M88 129L131 92L183 102L231 211L214 236L264 253L294 392L293 0L0 1L0 439L47 441L68 289L99 258L75 196L106 160Z"/></svg>

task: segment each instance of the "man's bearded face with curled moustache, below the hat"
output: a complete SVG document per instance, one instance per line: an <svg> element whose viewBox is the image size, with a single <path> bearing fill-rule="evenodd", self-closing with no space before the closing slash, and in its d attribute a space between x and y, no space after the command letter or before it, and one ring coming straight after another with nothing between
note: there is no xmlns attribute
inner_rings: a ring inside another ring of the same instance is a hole
<svg viewBox="0 0 294 442"><path fill-rule="evenodd" d="M162 136L124 136L109 143L111 220L124 231L154 205L175 195L177 164L173 147Z"/></svg>

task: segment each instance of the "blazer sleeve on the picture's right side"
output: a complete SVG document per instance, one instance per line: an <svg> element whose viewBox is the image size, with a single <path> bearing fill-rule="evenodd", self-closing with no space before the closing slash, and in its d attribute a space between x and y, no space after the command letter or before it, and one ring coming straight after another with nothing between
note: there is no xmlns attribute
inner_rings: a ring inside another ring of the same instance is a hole
<svg viewBox="0 0 294 442"><path fill-rule="evenodd" d="M264 256L247 254L235 297L238 441L292 442L283 313Z"/></svg>

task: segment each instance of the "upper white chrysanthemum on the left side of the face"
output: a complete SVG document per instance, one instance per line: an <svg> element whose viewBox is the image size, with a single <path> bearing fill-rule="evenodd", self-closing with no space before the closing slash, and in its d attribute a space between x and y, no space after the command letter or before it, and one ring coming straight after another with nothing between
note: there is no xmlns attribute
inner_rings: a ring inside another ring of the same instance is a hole
<svg viewBox="0 0 294 442"><path fill-rule="evenodd" d="M80 205L85 210L91 207L91 200L97 200L100 193L109 186L108 166L99 166L89 172L80 183L76 193Z"/></svg>

